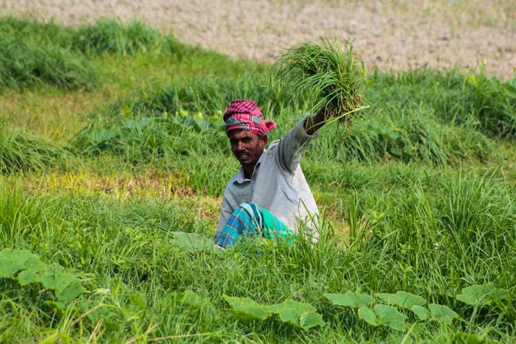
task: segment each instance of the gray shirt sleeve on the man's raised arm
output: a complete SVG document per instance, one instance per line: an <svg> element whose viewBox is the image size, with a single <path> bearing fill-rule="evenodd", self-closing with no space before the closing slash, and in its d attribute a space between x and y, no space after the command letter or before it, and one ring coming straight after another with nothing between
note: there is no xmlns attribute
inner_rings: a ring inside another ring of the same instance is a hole
<svg viewBox="0 0 516 344"><path fill-rule="evenodd" d="M297 122L288 133L279 140L276 145L277 162L282 169L292 173L299 165L301 153L310 145L313 138L319 136L319 133L308 135L305 129L305 120L308 116Z"/></svg>

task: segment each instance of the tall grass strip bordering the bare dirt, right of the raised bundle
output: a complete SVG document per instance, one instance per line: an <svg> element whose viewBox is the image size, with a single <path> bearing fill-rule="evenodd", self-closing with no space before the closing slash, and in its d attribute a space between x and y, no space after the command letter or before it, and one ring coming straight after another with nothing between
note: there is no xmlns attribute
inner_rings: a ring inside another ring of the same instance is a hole
<svg viewBox="0 0 516 344"><path fill-rule="evenodd" d="M455 69L422 68L374 74L371 83L367 99L373 104L424 105L444 123L475 129L490 137L514 137L514 78L504 83L488 77L483 70L478 75L462 75Z"/></svg>

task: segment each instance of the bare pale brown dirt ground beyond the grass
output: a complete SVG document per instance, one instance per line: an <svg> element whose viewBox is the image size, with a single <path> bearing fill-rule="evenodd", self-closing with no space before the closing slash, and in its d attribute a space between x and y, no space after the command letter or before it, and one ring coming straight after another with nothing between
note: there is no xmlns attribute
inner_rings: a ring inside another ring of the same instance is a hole
<svg viewBox="0 0 516 344"><path fill-rule="evenodd" d="M459 67L516 77L516 0L0 0L0 14L80 25L140 20L184 43L274 62L320 36L354 39L370 70Z"/></svg>

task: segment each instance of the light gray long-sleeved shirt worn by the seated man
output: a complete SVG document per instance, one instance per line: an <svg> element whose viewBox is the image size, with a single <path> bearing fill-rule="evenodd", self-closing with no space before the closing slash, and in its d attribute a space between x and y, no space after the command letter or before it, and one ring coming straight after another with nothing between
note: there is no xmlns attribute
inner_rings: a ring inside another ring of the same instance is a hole
<svg viewBox="0 0 516 344"><path fill-rule="evenodd" d="M242 202L252 202L270 211L288 228L297 232L299 224L306 222L314 228L318 214L317 205L305 180L299 161L312 138L305 131L306 117L286 133L283 138L264 149L252 177L244 177L244 169L231 178L222 197L222 210L215 237L221 233L235 208Z"/></svg>

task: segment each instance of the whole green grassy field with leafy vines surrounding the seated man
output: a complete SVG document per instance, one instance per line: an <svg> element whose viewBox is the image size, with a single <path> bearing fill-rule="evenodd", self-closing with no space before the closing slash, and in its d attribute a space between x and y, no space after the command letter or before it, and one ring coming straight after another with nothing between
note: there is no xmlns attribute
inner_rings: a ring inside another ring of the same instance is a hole
<svg viewBox="0 0 516 344"><path fill-rule="evenodd" d="M306 111L142 23L0 19L0 342L515 343L516 78L367 71L301 165L321 240L211 246L222 113Z"/></svg>

